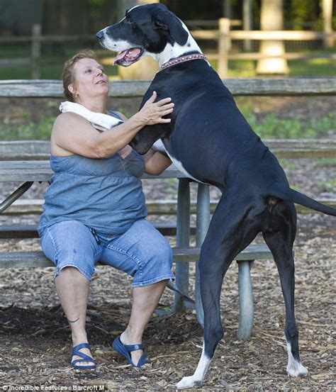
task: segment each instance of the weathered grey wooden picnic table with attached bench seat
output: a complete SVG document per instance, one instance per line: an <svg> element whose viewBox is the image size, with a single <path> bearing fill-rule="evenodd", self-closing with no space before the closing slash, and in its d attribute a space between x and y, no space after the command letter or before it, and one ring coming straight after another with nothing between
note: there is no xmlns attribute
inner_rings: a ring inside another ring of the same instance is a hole
<svg viewBox="0 0 336 392"><path fill-rule="evenodd" d="M21 182L20 186L0 203L0 213L20 198L34 182L49 181L52 176L50 162L38 161L1 161L0 182ZM144 174L143 179L179 179L177 199L177 247L174 248L176 266L176 285L174 310L194 306L198 321L203 325L203 308L199 289L199 275L196 268L195 301L188 297L189 262L198 262L200 247L210 223L210 194L207 184L198 184L198 201L196 213L196 247L189 247L190 237L190 180L171 165L159 176ZM250 337L253 325L253 294L250 268L255 259L269 259L271 253L266 245L250 245L237 256L239 262L240 324L238 336ZM0 267L48 267L52 262L47 260L43 252L1 252Z"/></svg>

